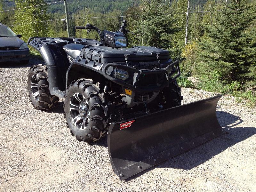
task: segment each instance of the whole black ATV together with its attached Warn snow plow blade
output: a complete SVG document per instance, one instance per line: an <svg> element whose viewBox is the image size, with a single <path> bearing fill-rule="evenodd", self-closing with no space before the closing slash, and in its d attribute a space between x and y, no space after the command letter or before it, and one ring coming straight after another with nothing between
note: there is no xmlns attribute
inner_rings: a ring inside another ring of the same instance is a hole
<svg viewBox="0 0 256 192"><path fill-rule="evenodd" d="M32 105L49 110L64 98L77 140L93 142L108 133L110 161L121 180L222 133L215 113L220 96L181 105L179 61L156 47L127 48L126 26L116 32L76 27L95 30L100 41L28 40L46 64L28 71Z"/></svg>

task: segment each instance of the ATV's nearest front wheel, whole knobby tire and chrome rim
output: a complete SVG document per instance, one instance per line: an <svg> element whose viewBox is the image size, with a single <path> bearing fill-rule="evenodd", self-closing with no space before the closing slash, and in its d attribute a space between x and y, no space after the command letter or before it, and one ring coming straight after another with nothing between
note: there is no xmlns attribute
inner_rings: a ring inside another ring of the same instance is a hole
<svg viewBox="0 0 256 192"><path fill-rule="evenodd" d="M65 97L67 126L77 140L92 142L106 134L107 106L98 83L79 79L68 86Z"/></svg>

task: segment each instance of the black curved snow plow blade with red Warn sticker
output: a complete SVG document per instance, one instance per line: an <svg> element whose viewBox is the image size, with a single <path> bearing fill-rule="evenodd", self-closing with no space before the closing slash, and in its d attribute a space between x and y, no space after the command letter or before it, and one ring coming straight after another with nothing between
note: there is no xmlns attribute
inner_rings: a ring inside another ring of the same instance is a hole
<svg viewBox="0 0 256 192"><path fill-rule="evenodd" d="M220 97L112 123L108 154L116 175L127 179L223 134L216 116Z"/></svg>

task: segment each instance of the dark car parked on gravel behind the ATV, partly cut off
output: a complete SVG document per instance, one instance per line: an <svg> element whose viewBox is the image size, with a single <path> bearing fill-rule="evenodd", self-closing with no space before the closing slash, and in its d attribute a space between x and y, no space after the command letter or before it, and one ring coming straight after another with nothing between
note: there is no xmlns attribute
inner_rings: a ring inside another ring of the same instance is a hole
<svg viewBox="0 0 256 192"><path fill-rule="evenodd" d="M29 62L30 53L28 45L20 39L10 28L0 23L0 62L20 61Z"/></svg>

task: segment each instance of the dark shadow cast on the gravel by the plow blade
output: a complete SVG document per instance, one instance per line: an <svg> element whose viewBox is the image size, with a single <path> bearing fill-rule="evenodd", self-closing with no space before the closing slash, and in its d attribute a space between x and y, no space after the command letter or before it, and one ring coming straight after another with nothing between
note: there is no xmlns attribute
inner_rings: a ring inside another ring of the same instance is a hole
<svg viewBox="0 0 256 192"><path fill-rule="evenodd" d="M239 116L235 116L224 111L217 111L216 113L218 121L223 127L225 134L207 141L204 144L192 148L180 155L174 156L167 161L157 164L155 167L191 170L192 168L208 161L213 156L220 154L229 147L232 147L236 143L246 140L256 134L256 127L234 127L243 122ZM139 177L145 172L153 170L155 167L153 166L143 172L140 172L128 178L126 181Z"/></svg>

